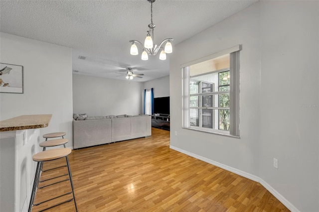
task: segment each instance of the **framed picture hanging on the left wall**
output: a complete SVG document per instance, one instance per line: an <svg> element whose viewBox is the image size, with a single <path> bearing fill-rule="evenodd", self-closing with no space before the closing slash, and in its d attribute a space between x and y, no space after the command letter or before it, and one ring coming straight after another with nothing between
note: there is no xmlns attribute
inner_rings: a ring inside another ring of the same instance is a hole
<svg viewBox="0 0 319 212"><path fill-rule="evenodd" d="M0 93L23 94L23 66L0 63Z"/></svg>

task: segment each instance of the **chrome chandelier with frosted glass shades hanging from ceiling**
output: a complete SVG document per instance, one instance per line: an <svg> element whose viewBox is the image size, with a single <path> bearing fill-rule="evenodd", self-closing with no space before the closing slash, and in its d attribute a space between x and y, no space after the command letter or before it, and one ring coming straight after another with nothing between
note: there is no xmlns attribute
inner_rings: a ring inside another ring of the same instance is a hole
<svg viewBox="0 0 319 212"><path fill-rule="evenodd" d="M149 24L149 31L147 31L147 35L145 38L144 45L138 41L138 40L130 40L129 42L132 43L131 46L131 55L138 55L139 50L138 47L136 46L135 43L141 44L143 47L143 52L142 52L142 60L148 60L149 56L148 55L156 55L160 51L160 60L166 60L166 53L171 53L172 52L172 46L170 41L173 40L172 38L166 38L164 39L160 45L155 45L153 40L154 40L154 28L155 24L153 23L153 2L155 0L148 0L151 2L151 23ZM165 44L165 47L162 47L162 45Z"/></svg>

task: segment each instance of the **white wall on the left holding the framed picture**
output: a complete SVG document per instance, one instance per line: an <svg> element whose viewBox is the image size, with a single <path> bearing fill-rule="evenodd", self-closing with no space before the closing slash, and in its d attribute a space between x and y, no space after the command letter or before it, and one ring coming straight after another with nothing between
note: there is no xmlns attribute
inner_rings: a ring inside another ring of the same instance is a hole
<svg viewBox="0 0 319 212"><path fill-rule="evenodd" d="M72 136L72 51L70 48L0 33L0 62L23 66L24 94L0 93L0 120L52 114L40 135L64 131Z"/></svg>

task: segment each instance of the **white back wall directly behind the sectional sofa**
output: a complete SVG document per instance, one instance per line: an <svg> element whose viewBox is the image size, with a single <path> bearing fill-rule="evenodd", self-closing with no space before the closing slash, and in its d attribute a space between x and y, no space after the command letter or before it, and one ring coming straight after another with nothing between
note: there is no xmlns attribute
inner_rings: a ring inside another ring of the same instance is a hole
<svg viewBox="0 0 319 212"><path fill-rule="evenodd" d="M73 112L95 115L142 113L143 83L73 74Z"/></svg>

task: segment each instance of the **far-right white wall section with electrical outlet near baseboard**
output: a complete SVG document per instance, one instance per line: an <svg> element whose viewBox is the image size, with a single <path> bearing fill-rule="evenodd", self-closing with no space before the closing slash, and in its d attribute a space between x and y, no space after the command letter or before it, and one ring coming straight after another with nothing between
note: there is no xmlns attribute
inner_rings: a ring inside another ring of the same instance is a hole
<svg viewBox="0 0 319 212"><path fill-rule="evenodd" d="M318 6L262 1L260 7L260 177L302 212L319 211Z"/></svg>

